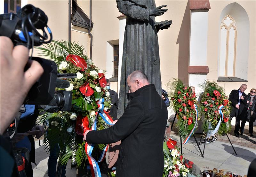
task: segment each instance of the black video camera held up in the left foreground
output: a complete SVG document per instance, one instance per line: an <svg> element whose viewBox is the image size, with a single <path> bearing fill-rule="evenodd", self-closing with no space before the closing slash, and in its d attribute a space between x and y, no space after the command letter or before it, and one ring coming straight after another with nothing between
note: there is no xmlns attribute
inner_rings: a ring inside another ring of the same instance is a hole
<svg viewBox="0 0 256 177"><path fill-rule="evenodd" d="M1 14L0 33L1 36L9 37L14 46L24 45L27 48L33 48L33 46L40 46L52 41L52 32L47 26L47 22L48 18L44 11L28 4L21 8L16 14ZM45 28L47 28L50 34L48 41L46 41L48 35L44 30ZM39 33L37 29L42 30L42 33ZM69 111L71 109L72 92L67 94L67 91L58 91L58 94L55 95L55 87L69 87L67 80L58 79L56 63L39 57L31 57L31 59L41 64L44 73L28 92L24 104L54 105L54 109L48 109L49 112L51 110L54 110L54 112ZM59 92L65 93L59 94ZM60 102L60 100L62 102Z"/></svg>

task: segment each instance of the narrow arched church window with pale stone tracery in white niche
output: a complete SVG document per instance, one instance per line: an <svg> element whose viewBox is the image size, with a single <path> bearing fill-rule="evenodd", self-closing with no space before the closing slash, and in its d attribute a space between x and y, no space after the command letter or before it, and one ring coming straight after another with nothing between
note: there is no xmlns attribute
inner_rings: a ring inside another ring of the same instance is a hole
<svg viewBox="0 0 256 177"><path fill-rule="evenodd" d="M220 24L220 76L235 77L236 22L227 15Z"/></svg>

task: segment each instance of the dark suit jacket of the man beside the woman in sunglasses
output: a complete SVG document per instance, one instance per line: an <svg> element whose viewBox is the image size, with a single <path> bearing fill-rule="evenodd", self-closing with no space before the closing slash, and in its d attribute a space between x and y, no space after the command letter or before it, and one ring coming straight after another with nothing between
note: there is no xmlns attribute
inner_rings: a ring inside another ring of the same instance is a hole
<svg viewBox="0 0 256 177"><path fill-rule="evenodd" d="M239 89L238 89L239 90ZM228 100L232 102L231 104L231 111L230 111L230 117L233 118L236 116L236 105L239 102L239 91L238 90L232 90L229 94ZM247 95L245 93L242 94L244 97L244 100L240 100L239 110L236 119L240 120L240 117L244 117L245 115L245 109L247 104Z"/></svg>

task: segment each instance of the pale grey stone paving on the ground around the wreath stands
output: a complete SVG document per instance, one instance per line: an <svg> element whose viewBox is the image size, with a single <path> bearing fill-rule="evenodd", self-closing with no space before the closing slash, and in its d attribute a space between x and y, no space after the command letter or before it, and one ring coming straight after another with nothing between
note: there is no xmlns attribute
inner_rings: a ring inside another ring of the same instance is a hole
<svg viewBox="0 0 256 177"><path fill-rule="evenodd" d="M175 127L176 126L174 125L171 135L180 146L180 137L178 136ZM245 133L243 136L241 136L241 138L235 137L233 132L234 130L231 130L228 137L230 138L237 155L232 149L227 136L221 136L218 137L216 142L205 144L203 158L196 145L195 139L191 137L187 144L182 145L183 157L193 161L201 171L204 169L218 168L218 170L223 169L224 172L231 171L232 173L238 173L242 176L247 175L248 167L251 161L256 158L256 126L253 127L253 137L249 136L248 126L245 126ZM170 127L166 128L166 133L170 134ZM200 137L201 135L196 134L196 139L198 142ZM42 144L42 140L40 140L40 142ZM32 164L34 177L47 177L47 160L49 154L46 153L43 145L39 146L38 140L35 141L35 147L37 168ZM204 144L200 144L199 147L203 151ZM76 168L71 169L71 160L68 161L66 171L67 177L76 176Z"/></svg>

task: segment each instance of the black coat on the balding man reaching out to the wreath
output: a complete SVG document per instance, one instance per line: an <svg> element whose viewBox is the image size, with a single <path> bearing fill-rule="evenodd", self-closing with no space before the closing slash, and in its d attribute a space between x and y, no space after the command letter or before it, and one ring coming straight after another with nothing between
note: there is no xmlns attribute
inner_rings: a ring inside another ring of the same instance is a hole
<svg viewBox="0 0 256 177"><path fill-rule="evenodd" d="M163 140L167 107L154 84L128 93L131 100L114 126L86 135L88 143L109 144L119 140L121 147L116 176L163 176Z"/></svg>

